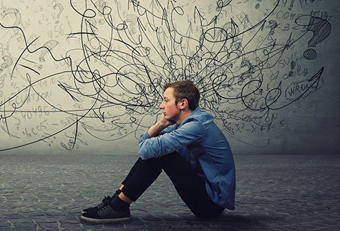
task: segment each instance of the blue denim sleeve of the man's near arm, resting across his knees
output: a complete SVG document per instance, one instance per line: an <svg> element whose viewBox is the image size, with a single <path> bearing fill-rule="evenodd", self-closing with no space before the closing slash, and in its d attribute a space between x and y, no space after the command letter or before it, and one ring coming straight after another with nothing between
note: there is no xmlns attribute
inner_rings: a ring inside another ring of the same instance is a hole
<svg viewBox="0 0 340 231"><path fill-rule="evenodd" d="M203 137L203 126L197 119L187 121L176 130L149 137L148 131L139 139L139 157L151 159L176 152L191 143L199 142Z"/></svg>

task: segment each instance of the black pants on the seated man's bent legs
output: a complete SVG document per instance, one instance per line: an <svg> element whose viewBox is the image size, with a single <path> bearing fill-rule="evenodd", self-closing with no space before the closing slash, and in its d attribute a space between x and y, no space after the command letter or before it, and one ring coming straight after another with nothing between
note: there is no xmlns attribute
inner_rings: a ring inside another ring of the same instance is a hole
<svg viewBox="0 0 340 231"><path fill-rule="evenodd" d="M162 170L166 172L179 196L195 216L213 218L223 212L224 208L208 196L204 179L177 152L146 161L139 158L122 182L122 192L132 201L136 201Z"/></svg>

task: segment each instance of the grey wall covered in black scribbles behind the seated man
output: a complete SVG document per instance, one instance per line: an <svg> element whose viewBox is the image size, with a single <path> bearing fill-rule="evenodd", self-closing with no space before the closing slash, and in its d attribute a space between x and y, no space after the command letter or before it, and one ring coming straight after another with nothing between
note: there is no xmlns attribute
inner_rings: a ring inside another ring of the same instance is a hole
<svg viewBox="0 0 340 231"><path fill-rule="evenodd" d="M337 154L339 1L1 1L0 154L134 154L191 79L234 154Z"/></svg>

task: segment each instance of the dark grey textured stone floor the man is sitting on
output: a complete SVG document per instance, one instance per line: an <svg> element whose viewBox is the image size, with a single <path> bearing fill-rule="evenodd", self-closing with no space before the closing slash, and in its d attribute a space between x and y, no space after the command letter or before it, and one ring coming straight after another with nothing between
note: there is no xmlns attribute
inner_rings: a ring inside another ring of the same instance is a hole
<svg viewBox="0 0 340 231"><path fill-rule="evenodd" d="M135 158L0 154L0 230L340 230L337 156L235 156L237 209L218 219L195 218L162 173L131 206L131 221L79 221Z"/></svg>

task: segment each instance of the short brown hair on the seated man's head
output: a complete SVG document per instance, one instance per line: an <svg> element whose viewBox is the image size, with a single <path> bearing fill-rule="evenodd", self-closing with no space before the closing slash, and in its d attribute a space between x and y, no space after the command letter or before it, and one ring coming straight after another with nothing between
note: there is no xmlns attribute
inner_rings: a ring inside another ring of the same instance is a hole
<svg viewBox="0 0 340 231"><path fill-rule="evenodd" d="M167 88L174 88L175 103L181 99L187 99L190 110L195 110L199 106L199 89L194 86L190 80L176 81L173 83L166 83L163 86L163 91Z"/></svg>

